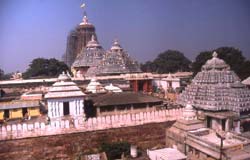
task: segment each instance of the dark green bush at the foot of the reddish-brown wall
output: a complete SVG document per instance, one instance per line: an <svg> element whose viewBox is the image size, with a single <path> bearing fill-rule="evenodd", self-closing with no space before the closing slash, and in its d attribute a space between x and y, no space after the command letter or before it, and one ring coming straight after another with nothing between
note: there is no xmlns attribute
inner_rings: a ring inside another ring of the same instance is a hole
<svg viewBox="0 0 250 160"><path fill-rule="evenodd" d="M101 151L107 154L109 160L120 159L122 154L129 156L130 144L127 142L103 143Z"/></svg>

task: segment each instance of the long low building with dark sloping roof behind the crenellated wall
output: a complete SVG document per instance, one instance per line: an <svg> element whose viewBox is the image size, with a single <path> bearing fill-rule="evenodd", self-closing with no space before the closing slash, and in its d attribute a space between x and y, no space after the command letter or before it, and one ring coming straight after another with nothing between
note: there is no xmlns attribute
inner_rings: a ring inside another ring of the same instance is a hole
<svg viewBox="0 0 250 160"><path fill-rule="evenodd" d="M163 104L159 98L135 92L106 93L89 97L96 116L155 111Z"/></svg>

